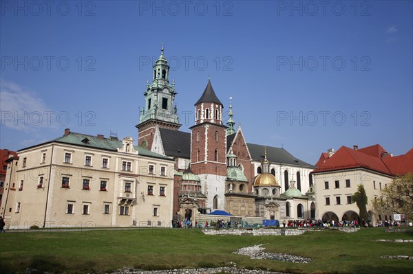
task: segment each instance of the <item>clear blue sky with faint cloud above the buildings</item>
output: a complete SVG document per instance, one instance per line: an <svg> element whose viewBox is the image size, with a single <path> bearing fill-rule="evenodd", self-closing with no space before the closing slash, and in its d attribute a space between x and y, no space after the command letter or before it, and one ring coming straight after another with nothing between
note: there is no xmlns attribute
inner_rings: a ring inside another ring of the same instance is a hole
<svg viewBox="0 0 413 274"><path fill-rule="evenodd" d="M248 143L413 147L412 1L0 1L0 148L131 136L162 43L181 130L209 77ZM226 122L227 117L224 118Z"/></svg>

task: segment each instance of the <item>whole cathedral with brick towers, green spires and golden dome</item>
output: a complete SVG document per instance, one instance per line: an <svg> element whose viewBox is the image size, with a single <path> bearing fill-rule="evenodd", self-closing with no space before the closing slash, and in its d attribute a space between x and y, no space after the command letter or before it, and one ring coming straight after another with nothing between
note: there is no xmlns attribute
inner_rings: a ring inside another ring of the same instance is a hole
<svg viewBox="0 0 413 274"><path fill-rule="evenodd" d="M175 160L174 220L214 212L270 220L315 218L314 165L284 148L247 143L241 127L235 128L231 102L229 117L223 117L224 104L211 79L195 102L190 132L181 131L163 45L152 76L136 125L138 146Z"/></svg>

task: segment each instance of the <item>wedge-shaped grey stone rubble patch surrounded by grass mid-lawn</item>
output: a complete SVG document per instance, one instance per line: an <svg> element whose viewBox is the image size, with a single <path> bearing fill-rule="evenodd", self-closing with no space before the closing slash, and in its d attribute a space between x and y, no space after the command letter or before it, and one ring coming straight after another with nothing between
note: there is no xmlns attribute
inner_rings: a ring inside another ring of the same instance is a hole
<svg viewBox="0 0 413 274"><path fill-rule="evenodd" d="M242 249L238 249L236 252L233 253L246 255L251 259L270 259L284 262L295 262L301 264L308 264L309 262L311 262L311 259L297 255L264 252L264 247L261 246L262 244L255 245L253 247L243 247Z"/></svg>

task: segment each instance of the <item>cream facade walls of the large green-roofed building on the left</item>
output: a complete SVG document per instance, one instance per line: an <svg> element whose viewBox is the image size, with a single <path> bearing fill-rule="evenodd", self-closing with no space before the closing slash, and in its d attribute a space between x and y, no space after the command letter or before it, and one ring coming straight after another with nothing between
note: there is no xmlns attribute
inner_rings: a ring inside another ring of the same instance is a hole
<svg viewBox="0 0 413 274"><path fill-rule="evenodd" d="M70 163L65 163L65 153L71 153ZM90 166L85 165L86 155L92 156ZM103 158L109 160L107 168L102 167ZM131 163L131 171L122 170L123 161ZM149 174L149 165L153 165L153 174ZM173 161L66 144L36 146L19 152L17 170L10 174L15 190L10 188L7 205L1 207L12 227L147 226L148 220L164 226L172 219L173 175L162 176L161 166L173 170ZM38 187L40 176L43 185ZM69 178L69 188L62 187L63 177ZM83 189L84 179L89 179L89 190ZM100 181L107 181L106 191L100 190ZM125 182L131 183L130 192L125 191ZM153 195L148 194L148 185ZM165 196L160 195L161 186ZM120 203L129 206L128 215L120 215ZM67 213L69 204L72 213ZM85 205L88 210L83 214ZM109 205L106 214L105 205ZM157 216L153 216L154 208Z"/></svg>

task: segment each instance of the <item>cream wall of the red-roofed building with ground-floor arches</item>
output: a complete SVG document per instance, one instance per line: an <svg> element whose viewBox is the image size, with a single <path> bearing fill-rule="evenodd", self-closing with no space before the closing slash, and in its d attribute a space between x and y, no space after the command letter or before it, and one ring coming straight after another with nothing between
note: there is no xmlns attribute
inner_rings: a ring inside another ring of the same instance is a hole
<svg viewBox="0 0 413 274"><path fill-rule="evenodd" d="M346 187L346 180L350 180L350 187ZM325 187L324 182L326 181L328 181L328 189ZM335 187L335 181L339 181L339 187ZM374 198L380 198L380 185L384 188L385 185L391 182L391 176L365 169L316 173L314 174L316 218L321 219L326 212L335 213L339 220L349 212L359 214L356 203L348 203L347 197L357 192L357 187L360 184L366 189L368 197L367 210L368 212L374 212L372 201L374 201ZM374 184L376 185L375 188ZM337 197L340 198L341 204L339 205L337 205ZM330 198L330 205L326 205L326 198ZM375 214L372 218L373 225L377 223L378 219L379 216Z"/></svg>

